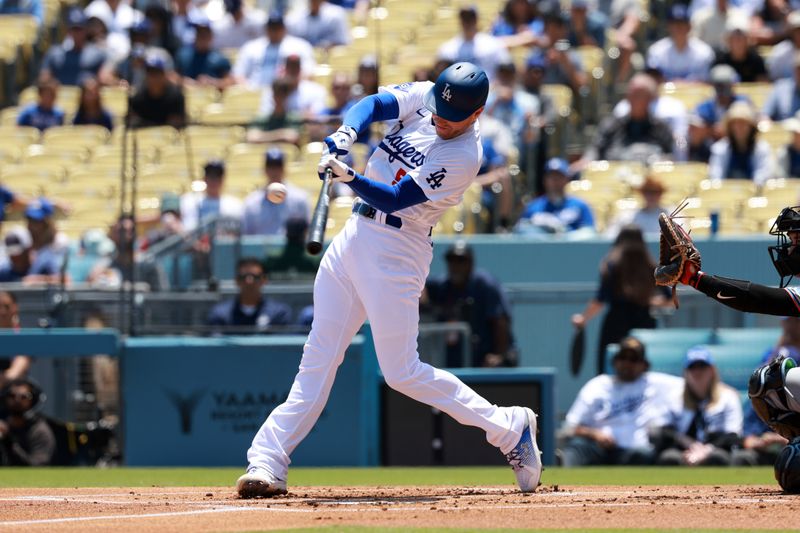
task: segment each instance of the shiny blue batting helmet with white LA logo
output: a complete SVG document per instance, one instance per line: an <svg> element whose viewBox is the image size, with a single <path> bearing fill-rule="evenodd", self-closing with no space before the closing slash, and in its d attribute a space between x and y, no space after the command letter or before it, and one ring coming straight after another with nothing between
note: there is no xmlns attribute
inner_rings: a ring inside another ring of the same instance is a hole
<svg viewBox="0 0 800 533"><path fill-rule="evenodd" d="M425 95L425 107L434 115L452 122L461 122L486 103L489 78L482 68L472 63L455 63L447 67L436 84Z"/></svg>

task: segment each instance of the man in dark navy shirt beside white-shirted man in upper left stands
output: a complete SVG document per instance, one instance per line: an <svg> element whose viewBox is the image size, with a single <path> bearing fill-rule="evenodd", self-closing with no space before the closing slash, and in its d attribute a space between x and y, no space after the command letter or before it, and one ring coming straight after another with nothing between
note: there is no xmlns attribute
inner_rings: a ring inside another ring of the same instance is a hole
<svg viewBox="0 0 800 533"><path fill-rule="evenodd" d="M231 63L211 46L214 37L211 21L198 17L191 24L195 30L194 44L183 45L178 51L175 56L175 70L183 76L184 85L224 90L233 84Z"/></svg>

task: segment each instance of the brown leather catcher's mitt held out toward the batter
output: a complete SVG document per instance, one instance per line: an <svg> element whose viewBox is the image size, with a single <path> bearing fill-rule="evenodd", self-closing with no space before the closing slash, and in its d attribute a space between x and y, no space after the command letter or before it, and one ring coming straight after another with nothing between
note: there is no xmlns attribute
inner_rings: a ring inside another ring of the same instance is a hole
<svg viewBox="0 0 800 533"><path fill-rule="evenodd" d="M672 287L672 301L678 307L676 286L678 283L694 285L700 271L700 251L695 247L689 233L676 222L688 202L684 201L672 213L661 213L661 244L658 266L655 271L656 285Z"/></svg>

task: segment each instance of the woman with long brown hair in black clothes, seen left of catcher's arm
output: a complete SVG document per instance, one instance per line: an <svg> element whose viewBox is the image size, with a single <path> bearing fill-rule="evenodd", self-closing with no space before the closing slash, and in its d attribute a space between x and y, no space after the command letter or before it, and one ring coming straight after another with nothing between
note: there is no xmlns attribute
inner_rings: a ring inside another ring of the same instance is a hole
<svg viewBox="0 0 800 533"><path fill-rule="evenodd" d="M597 345L597 373L606 368L606 348L619 342L632 329L656 327L650 314L652 307L668 304L669 291L656 287L653 271L656 264L638 226L625 226L614 240L611 250L600 262L600 285L581 313L572 315L578 329L608 309L603 317Z"/></svg>

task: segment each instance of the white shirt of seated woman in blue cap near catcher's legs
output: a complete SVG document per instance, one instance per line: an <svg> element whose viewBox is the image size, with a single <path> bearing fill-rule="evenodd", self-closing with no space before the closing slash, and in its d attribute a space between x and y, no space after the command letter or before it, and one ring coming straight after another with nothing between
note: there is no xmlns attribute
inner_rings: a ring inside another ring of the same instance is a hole
<svg viewBox="0 0 800 533"><path fill-rule="evenodd" d="M673 426L684 435L689 431L695 412L686 408L683 400L683 388L673 392L670 397L672 409L668 425ZM703 434L698 435L699 440L705 440L709 433L736 433L742 434L744 416L742 414L742 400L739 393L728 385L721 384L719 399L713 405L708 400L700 402L698 407L703 411Z"/></svg>

